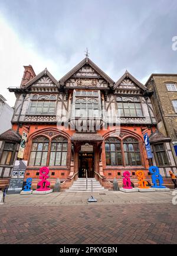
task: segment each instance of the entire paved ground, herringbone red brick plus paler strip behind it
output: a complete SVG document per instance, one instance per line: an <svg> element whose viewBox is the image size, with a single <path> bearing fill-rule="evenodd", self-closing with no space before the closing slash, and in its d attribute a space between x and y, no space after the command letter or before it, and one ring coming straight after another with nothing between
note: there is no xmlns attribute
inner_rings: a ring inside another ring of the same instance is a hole
<svg viewBox="0 0 177 256"><path fill-rule="evenodd" d="M172 204L172 191L136 196L114 191L95 193L98 203L90 204L85 200L88 193L68 194L6 196L6 203L0 206L0 244L177 242L177 204Z"/></svg>

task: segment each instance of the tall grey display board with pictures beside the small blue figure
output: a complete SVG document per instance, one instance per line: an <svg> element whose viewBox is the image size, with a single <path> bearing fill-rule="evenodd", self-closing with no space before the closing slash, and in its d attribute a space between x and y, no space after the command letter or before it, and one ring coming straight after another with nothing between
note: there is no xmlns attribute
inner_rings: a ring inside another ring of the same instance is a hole
<svg viewBox="0 0 177 256"><path fill-rule="evenodd" d="M7 194L19 194L22 190L24 183L25 171L27 168L27 161L15 161L14 168L12 169L11 180L9 182Z"/></svg>

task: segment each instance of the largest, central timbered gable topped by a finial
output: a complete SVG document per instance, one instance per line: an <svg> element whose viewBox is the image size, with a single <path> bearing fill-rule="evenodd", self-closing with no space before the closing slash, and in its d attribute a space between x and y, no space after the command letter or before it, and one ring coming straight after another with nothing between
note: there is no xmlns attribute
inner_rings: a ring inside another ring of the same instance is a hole
<svg viewBox="0 0 177 256"><path fill-rule="evenodd" d="M71 69L59 82L65 88L108 89L114 84L113 80L88 57Z"/></svg>

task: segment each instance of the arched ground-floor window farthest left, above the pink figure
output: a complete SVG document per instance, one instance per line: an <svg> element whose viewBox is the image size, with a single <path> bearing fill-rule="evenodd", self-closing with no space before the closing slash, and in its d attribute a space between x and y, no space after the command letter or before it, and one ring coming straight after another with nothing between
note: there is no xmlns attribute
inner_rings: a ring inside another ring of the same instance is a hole
<svg viewBox="0 0 177 256"><path fill-rule="evenodd" d="M36 137L32 141L31 155L30 155L30 166L45 166L47 163L49 140L44 137Z"/></svg>

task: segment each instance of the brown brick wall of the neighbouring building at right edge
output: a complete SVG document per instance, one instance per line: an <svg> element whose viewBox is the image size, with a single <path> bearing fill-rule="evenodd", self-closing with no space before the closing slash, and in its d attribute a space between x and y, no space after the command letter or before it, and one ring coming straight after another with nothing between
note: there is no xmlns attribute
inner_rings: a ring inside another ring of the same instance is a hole
<svg viewBox="0 0 177 256"><path fill-rule="evenodd" d="M153 91L151 100L158 121L158 130L163 135L171 137L171 148L175 156L173 144L177 142L177 113L172 100L177 100L177 91L168 91L166 84L175 84L177 88L177 75L153 74L147 82L148 89ZM175 159L177 163L176 156Z"/></svg>

